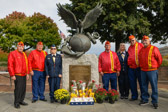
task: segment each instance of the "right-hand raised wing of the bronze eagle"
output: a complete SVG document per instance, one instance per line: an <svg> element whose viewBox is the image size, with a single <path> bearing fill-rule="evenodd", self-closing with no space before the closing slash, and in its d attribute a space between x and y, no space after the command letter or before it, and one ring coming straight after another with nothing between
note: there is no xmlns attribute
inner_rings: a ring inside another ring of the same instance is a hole
<svg viewBox="0 0 168 112"><path fill-rule="evenodd" d="M102 4L97 4L97 6L90 10L84 20L82 21L82 25L83 25L83 29L86 29L88 27L90 27L93 23L96 22L97 18L100 16L101 12L102 12Z"/></svg>

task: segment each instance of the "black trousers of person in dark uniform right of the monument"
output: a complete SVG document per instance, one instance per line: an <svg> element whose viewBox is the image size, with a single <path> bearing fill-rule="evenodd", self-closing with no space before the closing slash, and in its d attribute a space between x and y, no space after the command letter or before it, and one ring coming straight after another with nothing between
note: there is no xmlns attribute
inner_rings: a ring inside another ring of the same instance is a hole
<svg viewBox="0 0 168 112"><path fill-rule="evenodd" d="M119 90L121 96L129 96L129 79L128 73L125 71L120 72L120 76L118 77L119 82Z"/></svg>

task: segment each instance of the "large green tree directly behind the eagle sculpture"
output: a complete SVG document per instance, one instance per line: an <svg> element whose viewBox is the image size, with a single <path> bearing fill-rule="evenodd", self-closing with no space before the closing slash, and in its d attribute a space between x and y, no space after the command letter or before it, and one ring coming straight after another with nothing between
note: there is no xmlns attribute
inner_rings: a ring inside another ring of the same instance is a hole
<svg viewBox="0 0 168 112"><path fill-rule="evenodd" d="M70 1L72 3L66 4L65 7L81 19L100 2L99 0ZM153 22L149 21L151 18L146 14L148 12L153 16L153 9L157 10L154 6L161 4L159 0L101 0L101 3L102 15L92 27L85 31L97 31L101 35L101 42L105 40L115 42L116 51L121 42L128 42L128 36L131 34L137 39L142 39L143 35L155 33L155 29L151 29Z"/></svg>

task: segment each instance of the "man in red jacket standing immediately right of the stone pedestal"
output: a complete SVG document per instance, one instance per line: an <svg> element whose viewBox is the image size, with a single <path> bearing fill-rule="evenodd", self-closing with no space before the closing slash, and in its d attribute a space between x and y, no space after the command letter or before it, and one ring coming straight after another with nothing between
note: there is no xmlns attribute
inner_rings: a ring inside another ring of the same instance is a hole
<svg viewBox="0 0 168 112"><path fill-rule="evenodd" d="M111 51L110 42L105 43L105 51L99 56L99 73L102 76L103 87L108 91L109 81L111 82L111 89L117 90L117 76L121 70L118 56Z"/></svg>

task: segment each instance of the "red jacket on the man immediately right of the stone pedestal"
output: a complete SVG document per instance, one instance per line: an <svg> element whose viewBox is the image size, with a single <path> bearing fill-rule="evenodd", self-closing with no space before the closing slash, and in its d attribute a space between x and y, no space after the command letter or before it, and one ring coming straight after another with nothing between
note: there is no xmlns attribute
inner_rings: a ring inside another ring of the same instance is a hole
<svg viewBox="0 0 168 112"><path fill-rule="evenodd" d="M118 56L115 52L102 52L99 56L99 72L115 73L121 70Z"/></svg>

